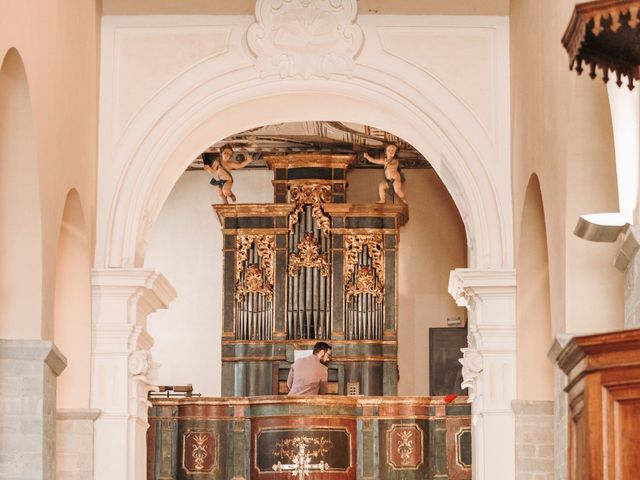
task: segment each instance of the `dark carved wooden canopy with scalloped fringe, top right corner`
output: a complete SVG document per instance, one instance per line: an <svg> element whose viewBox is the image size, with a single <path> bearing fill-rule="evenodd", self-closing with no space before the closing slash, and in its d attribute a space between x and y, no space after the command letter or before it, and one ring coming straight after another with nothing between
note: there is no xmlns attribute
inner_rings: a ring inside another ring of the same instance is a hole
<svg viewBox="0 0 640 480"><path fill-rule="evenodd" d="M597 0L576 5L562 44L569 53L570 68L582 73L589 66L589 75L596 77L596 67L602 78L609 80L615 72L616 83L628 78L633 89L640 78L640 0Z"/></svg>

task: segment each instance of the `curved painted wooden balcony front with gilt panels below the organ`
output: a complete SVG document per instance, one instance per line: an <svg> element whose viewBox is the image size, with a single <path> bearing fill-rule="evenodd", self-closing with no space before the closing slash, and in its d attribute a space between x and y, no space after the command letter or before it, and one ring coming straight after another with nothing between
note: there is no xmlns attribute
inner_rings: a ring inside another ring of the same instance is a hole
<svg viewBox="0 0 640 480"><path fill-rule="evenodd" d="M154 399L149 480L471 479L464 397Z"/></svg>

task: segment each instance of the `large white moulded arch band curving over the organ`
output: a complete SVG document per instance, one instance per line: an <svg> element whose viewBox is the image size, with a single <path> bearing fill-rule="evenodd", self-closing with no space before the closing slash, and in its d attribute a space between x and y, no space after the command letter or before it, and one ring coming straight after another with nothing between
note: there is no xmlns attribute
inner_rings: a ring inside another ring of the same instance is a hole
<svg viewBox="0 0 640 480"><path fill-rule="evenodd" d="M236 82L227 75L227 88L220 87L219 78L200 81L191 91L167 88L166 96L158 95L138 113L113 153L126 159L126 167L113 186L108 218L102 219L97 264L143 265L147 239L171 188L188 163L213 142L270 123L340 120L376 126L412 143L430 159L461 213L469 265L512 266L505 187L489 173L490 155L478 153L487 152L486 143L476 138L482 129L438 82L426 98L414 91L417 98L407 99L398 93L406 85L398 86L402 80L390 75L377 83L256 82L249 69L245 75L247 80Z"/></svg>

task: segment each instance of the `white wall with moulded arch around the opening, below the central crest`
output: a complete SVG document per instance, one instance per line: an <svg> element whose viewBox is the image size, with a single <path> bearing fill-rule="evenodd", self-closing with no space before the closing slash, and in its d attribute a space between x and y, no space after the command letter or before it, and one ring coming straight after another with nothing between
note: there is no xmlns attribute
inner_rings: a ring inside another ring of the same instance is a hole
<svg viewBox="0 0 640 480"><path fill-rule="evenodd" d="M513 265L506 17L361 15L353 76L310 80L259 78L252 21L103 17L97 265L141 264L173 184L211 142L320 119L411 142L461 212L469 264Z"/></svg>

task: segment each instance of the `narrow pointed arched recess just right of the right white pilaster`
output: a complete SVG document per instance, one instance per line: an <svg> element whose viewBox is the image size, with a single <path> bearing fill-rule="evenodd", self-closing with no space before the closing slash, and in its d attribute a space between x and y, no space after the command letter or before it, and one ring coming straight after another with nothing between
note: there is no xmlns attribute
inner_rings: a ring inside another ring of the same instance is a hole
<svg viewBox="0 0 640 480"><path fill-rule="evenodd" d="M521 400L553 400L551 302L547 228L540 181L527 185L516 253L517 395Z"/></svg>

